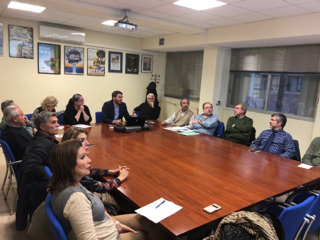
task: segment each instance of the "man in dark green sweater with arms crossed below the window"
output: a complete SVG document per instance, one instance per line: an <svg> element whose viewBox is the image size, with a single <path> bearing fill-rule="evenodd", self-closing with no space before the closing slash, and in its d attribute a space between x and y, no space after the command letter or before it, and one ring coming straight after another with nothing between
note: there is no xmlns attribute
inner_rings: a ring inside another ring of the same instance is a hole
<svg viewBox="0 0 320 240"><path fill-rule="evenodd" d="M233 110L234 116L230 116L226 122L224 139L247 146L250 139L253 120L245 115L245 104L236 104Z"/></svg>

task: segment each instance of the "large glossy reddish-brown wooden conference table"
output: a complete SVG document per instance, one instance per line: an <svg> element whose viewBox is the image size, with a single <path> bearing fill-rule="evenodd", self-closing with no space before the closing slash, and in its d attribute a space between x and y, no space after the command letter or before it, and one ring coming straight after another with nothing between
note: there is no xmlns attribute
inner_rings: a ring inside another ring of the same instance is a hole
<svg viewBox="0 0 320 240"><path fill-rule="evenodd" d="M315 183L320 176L317 167L297 167L298 161L250 152L247 146L205 134L180 135L154 122L151 130L132 133L92 123L86 128L94 144L89 157L92 167L130 168L116 192L135 209L160 197L182 206L159 222L172 239L201 232L233 211ZM203 207L212 203L221 209L206 213Z"/></svg>

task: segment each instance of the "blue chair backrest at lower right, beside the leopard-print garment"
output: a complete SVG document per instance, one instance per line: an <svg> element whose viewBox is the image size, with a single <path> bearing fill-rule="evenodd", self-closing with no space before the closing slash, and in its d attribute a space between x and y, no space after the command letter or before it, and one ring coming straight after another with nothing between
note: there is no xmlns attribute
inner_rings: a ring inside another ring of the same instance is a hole
<svg viewBox="0 0 320 240"><path fill-rule="evenodd" d="M310 196L301 203L289 206L281 212L279 219L284 228L285 240L294 239L294 236L297 234L297 231L303 222L303 217L310 208L314 198L314 196Z"/></svg>

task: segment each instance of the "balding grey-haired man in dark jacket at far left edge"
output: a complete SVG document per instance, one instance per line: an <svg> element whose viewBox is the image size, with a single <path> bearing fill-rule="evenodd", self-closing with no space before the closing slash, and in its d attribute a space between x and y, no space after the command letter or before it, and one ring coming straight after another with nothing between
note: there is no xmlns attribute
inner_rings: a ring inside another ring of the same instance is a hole
<svg viewBox="0 0 320 240"><path fill-rule="evenodd" d="M4 108L3 119L6 126L1 134L1 139L8 143L15 160L22 160L25 148L32 139L29 132L22 127L26 116L21 108L10 105Z"/></svg>

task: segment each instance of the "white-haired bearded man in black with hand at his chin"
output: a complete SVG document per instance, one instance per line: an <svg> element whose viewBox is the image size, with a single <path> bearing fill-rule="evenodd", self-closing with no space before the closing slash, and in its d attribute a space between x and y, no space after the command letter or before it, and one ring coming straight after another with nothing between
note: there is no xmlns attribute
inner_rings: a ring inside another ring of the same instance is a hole
<svg viewBox="0 0 320 240"><path fill-rule="evenodd" d="M146 119L158 119L161 108L154 102L155 97L153 93L146 95L146 101L133 109L133 114L139 112L139 116L143 116Z"/></svg>

